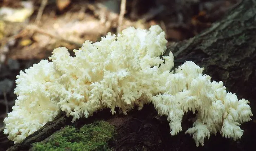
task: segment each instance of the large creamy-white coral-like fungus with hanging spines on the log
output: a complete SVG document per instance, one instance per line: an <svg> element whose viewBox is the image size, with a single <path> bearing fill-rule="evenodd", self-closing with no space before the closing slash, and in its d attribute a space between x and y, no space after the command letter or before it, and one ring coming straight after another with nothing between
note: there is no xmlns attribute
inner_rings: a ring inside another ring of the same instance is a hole
<svg viewBox="0 0 256 151"><path fill-rule="evenodd" d="M17 75L18 95L13 111L4 119L4 133L14 143L52 121L62 110L75 120L102 108L115 107L127 114L151 102L160 115L166 115L171 134L182 131L183 115L191 110L197 115L186 133L197 146L210 134L237 140L243 130L239 125L251 120L245 99L227 93L223 82L211 82L192 61L186 61L175 73L173 54L162 59L167 40L159 26L149 31L129 27L122 34L111 35L96 43L85 41L70 56L64 47L54 49L48 60L41 60Z"/></svg>

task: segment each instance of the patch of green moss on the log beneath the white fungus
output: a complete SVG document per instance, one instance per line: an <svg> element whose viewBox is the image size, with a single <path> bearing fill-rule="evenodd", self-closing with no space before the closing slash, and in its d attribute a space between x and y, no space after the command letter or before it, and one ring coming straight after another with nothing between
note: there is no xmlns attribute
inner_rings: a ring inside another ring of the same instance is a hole
<svg viewBox="0 0 256 151"><path fill-rule="evenodd" d="M32 151L110 151L108 141L115 128L107 122L97 121L77 129L67 126L54 133L48 140L34 143Z"/></svg>

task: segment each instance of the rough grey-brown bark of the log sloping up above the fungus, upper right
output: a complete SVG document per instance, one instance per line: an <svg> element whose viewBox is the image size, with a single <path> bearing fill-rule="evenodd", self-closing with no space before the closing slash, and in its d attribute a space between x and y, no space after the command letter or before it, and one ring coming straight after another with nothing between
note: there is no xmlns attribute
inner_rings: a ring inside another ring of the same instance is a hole
<svg viewBox="0 0 256 151"><path fill-rule="evenodd" d="M229 91L248 99L256 90L255 48L256 1L242 0L211 28L170 45L168 51L178 63L194 61L213 80L223 81Z"/></svg>

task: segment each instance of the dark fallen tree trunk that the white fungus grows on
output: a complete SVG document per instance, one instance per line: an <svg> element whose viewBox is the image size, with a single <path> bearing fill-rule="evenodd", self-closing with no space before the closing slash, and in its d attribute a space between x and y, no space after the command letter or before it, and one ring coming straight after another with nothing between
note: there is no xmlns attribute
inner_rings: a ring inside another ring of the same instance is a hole
<svg viewBox="0 0 256 151"><path fill-rule="evenodd" d="M251 102L252 111L256 111L256 0L242 0L234 6L225 17L211 28L189 40L168 45L168 54L172 51L175 65L185 60L194 61L204 67L204 73L212 80L223 81L227 90L237 93L238 98ZM122 119L121 124L112 122L119 133L118 140L112 143L116 150L239 150L255 148L256 122L252 120L242 125L242 139L234 142L217 134L205 140L203 147L195 147L191 136L184 134L191 123L184 120L183 132L171 137L166 117L157 115L152 105L141 111L133 110L127 119L122 115L111 116L109 110L103 110L90 119L81 119L75 125L90 123L95 117L103 116L105 120ZM105 114L103 114L105 113ZM107 114L107 115L106 115ZM256 113L254 113L256 114ZM185 115L184 119L190 117ZM126 119L126 120L124 120ZM90 122L89 122L90 121ZM253 122L254 121L254 122ZM31 143L41 141L50 134L70 123L70 118L61 114L53 122L26 138L21 144L9 150L26 150Z"/></svg>

